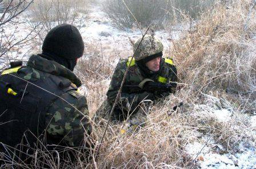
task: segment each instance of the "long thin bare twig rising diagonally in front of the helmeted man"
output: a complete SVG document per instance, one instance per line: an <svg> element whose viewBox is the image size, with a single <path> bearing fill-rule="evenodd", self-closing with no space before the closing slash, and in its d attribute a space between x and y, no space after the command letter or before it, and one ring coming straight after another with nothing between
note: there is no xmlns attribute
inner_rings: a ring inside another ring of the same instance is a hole
<svg viewBox="0 0 256 169"><path fill-rule="evenodd" d="M145 37L145 35L147 34L147 31L149 30L149 28L150 28L150 25L149 25L149 27L147 27L147 30L145 31L145 33L144 33L144 34L142 33L143 35L142 35L141 41L139 41L138 46L137 46L136 49L134 50L134 53L138 50L138 47L141 45L141 42L142 42L143 38ZM134 55L133 55L133 57L131 58L131 60L133 60L133 58L134 58ZM112 107L112 109L111 109L110 116L112 116L113 111L114 111L114 108L115 108L115 106L117 105L117 102L118 102L117 100L119 99L119 96L121 95L123 83L125 83L126 75L127 75L128 71L129 71L130 65L131 65L131 62L129 62L129 65L127 66L127 69L126 69L126 71L125 71L125 75L123 75L123 80L122 80L121 86L120 86L120 88L119 88L117 97L115 98L115 102L114 102L114 104L113 104L113 107ZM107 125L106 125L106 127L105 127L105 131L104 131L104 133L103 133L103 135L102 135L101 142L99 143L99 147L98 147L98 150L97 150L97 152L96 152L96 158L97 158L97 156L98 156L98 154L99 154L99 150L100 150L100 148L101 148L101 144L102 144L102 142L103 142L103 139L104 139L104 137L105 137L105 135L106 135L107 128L109 127L109 123L110 123L110 118L107 120Z"/></svg>

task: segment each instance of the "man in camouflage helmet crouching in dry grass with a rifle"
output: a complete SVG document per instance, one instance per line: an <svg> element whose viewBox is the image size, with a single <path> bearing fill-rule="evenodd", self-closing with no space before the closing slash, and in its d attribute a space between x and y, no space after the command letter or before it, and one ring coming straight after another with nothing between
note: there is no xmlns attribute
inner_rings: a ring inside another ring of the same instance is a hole
<svg viewBox="0 0 256 169"><path fill-rule="evenodd" d="M151 35L146 35L141 45L139 45L140 41L141 38L134 44L134 59L129 57L119 61L107 91L107 102L104 103L108 110L98 110L96 115L102 116L104 112L109 115L128 65L130 68L121 96L110 118L124 120L129 114L138 111L143 100L154 101L170 92L175 92L175 87L169 91L160 91L159 88L154 87L156 84L162 85L177 81L177 69L172 59L162 58L161 41ZM135 51L138 45L138 50Z"/></svg>

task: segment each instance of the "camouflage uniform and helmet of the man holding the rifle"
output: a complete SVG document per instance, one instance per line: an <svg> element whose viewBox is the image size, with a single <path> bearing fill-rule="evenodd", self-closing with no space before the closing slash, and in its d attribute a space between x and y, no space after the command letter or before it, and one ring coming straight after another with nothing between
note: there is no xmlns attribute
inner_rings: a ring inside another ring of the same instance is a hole
<svg viewBox="0 0 256 169"><path fill-rule="evenodd" d="M172 59L162 58L161 59L161 66L160 70L157 73L149 73L145 74L141 68L138 66L137 62L147 58L150 55L154 55L156 53L160 53L163 50L162 43L152 38L150 35L146 35L141 45L138 47L138 50L135 49L138 46L139 41L134 45L134 59L129 57L129 59L121 59L115 68L113 77L110 82L109 90L107 91L107 102L103 103L105 109L99 108L97 111L98 116L106 116L106 112L109 115L110 108L113 106L115 102L115 98L118 94L118 90L121 86L122 79L124 77L125 71L130 64L129 71L127 73L124 85L138 85L144 79L151 79L154 82L161 82L161 83L169 83L169 82L176 82L177 81L177 69L173 64ZM126 89L122 90L121 97L118 100L118 104L114 109L114 116L111 118L123 120L127 117L128 113L136 112L138 110L138 105L143 100L155 100L157 98L161 98L163 95L167 94L158 94L157 91L154 93L150 92L133 92L133 89ZM175 90L173 90L175 92ZM137 108L137 110L135 110ZM135 110L135 111L134 111ZM105 115L104 115L105 113Z"/></svg>

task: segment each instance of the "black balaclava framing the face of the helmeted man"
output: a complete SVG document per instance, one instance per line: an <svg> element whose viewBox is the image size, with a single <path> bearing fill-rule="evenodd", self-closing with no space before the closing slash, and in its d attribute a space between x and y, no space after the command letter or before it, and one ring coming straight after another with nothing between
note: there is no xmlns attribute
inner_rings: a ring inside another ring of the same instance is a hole
<svg viewBox="0 0 256 169"><path fill-rule="evenodd" d="M146 63L151 61L154 58L162 57L162 55L163 55L163 53L161 52L161 53L157 53L157 54L154 54L154 55L150 55L149 57L146 57L145 59L141 59L139 61L136 61L139 69L141 69L143 75L145 75L146 78L150 78L154 75L157 75L163 67L162 59L160 61L160 69L158 71L149 70L149 68L147 68L147 66L146 66Z"/></svg>

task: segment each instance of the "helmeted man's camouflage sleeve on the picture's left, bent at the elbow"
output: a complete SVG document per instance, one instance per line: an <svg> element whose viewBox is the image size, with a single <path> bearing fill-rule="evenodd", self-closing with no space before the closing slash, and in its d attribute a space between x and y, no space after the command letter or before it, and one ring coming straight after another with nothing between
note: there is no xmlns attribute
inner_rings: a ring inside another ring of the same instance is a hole
<svg viewBox="0 0 256 169"><path fill-rule="evenodd" d="M107 91L107 100L110 103L110 106L113 106L115 102L126 68L126 62L119 62L117 67L115 67L109 90ZM149 99L149 97L152 98L151 94L148 92L131 94L121 92L121 98L119 99L118 105L126 111L130 108L131 110L134 110L143 99Z"/></svg>

